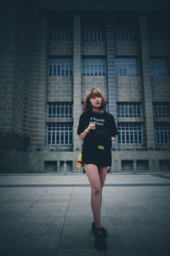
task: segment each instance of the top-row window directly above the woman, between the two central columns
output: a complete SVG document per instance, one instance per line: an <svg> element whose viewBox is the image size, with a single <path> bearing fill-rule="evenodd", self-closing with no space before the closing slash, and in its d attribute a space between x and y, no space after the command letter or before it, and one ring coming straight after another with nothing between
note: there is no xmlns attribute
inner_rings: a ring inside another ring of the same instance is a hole
<svg viewBox="0 0 170 256"><path fill-rule="evenodd" d="M103 28L82 28L82 41L94 41L104 39Z"/></svg>

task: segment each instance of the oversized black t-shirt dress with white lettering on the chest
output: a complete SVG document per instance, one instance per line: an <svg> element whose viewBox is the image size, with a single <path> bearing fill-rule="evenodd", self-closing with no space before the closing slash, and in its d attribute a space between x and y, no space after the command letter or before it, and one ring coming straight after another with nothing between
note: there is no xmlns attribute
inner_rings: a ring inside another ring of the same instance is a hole
<svg viewBox="0 0 170 256"><path fill-rule="evenodd" d="M88 128L90 123L95 124L95 130L90 130L83 139L82 166L111 166L111 137L118 134L116 123L111 113L82 113L79 119L77 134Z"/></svg>

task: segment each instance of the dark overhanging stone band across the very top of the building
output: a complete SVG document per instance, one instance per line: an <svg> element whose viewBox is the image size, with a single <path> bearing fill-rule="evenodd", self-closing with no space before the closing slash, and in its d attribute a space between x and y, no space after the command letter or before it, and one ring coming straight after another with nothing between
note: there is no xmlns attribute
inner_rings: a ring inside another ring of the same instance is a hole
<svg viewBox="0 0 170 256"><path fill-rule="evenodd" d="M48 10L161 11L166 10L166 7L169 9L168 0L162 0L161 3L159 0L42 0L40 3L39 8Z"/></svg>

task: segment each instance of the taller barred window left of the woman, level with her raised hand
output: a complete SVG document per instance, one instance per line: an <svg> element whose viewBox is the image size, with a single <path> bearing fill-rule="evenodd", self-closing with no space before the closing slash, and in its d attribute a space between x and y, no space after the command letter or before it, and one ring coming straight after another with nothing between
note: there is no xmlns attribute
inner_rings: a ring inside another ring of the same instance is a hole
<svg viewBox="0 0 170 256"><path fill-rule="evenodd" d="M72 145L73 131L71 124L48 124L48 145Z"/></svg>

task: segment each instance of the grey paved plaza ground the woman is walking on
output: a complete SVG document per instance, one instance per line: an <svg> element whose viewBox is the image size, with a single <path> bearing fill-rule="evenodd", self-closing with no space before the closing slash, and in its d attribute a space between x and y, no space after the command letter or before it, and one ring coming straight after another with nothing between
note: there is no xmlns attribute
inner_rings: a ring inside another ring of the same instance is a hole
<svg viewBox="0 0 170 256"><path fill-rule="evenodd" d="M2 256L170 255L170 173L108 174L102 224L108 251L94 249L85 174L0 175Z"/></svg>

